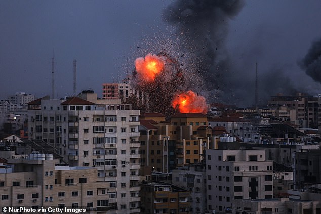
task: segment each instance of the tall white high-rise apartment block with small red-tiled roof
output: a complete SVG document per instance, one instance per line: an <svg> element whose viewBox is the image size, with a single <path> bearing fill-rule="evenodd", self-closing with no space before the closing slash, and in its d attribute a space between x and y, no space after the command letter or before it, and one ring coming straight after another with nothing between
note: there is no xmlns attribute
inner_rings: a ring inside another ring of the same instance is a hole
<svg viewBox="0 0 321 214"><path fill-rule="evenodd" d="M96 168L97 180L116 188L119 206L129 201L129 194L122 197L121 190L133 195L140 190L140 112L131 105L97 100L97 94L79 97L28 103L29 139L55 147L70 166ZM139 212L139 201L131 199L127 213Z"/></svg>

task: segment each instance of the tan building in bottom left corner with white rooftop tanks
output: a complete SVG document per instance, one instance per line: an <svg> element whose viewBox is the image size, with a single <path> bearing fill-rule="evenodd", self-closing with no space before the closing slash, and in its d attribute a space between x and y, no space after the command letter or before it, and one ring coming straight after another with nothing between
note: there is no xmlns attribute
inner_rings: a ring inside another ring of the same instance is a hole
<svg viewBox="0 0 321 214"><path fill-rule="evenodd" d="M131 207L131 201L139 200L138 194L98 181L96 168L59 165L59 160L43 159L11 159L6 168L0 169L1 206L139 213L137 207ZM128 199L122 201L127 195Z"/></svg>

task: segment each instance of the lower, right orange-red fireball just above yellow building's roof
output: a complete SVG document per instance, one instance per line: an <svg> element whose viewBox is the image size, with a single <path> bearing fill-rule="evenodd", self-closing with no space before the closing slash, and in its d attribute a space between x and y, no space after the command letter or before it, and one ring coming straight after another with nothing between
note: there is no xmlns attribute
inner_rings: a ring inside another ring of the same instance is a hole
<svg viewBox="0 0 321 214"><path fill-rule="evenodd" d="M174 96L172 106L181 113L206 113L208 109L205 98L198 96L193 91Z"/></svg>

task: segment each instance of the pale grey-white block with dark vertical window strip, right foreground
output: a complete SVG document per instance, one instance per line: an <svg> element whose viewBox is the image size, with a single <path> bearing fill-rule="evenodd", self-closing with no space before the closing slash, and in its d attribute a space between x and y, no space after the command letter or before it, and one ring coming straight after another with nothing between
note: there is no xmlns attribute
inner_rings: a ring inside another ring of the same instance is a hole
<svg viewBox="0 0 321 214"><path fill-rule="evenodd" d="M265 150L206 150L207 209L223 212L234 199L273 197L273 161Z"/></svg>

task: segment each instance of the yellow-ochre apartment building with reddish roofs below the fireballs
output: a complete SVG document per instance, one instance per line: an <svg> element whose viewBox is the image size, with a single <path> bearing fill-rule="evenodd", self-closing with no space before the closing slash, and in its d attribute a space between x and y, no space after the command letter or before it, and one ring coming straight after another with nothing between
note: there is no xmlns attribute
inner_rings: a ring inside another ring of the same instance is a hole
<svg viewBox="0 0 321 214"><path fill-rule="evenodd" d="M203 160L212 141L205 114L174 114L167 122L160 121L164 117L158 113L145 113L143 118L139 127L143 176L152 171L168 173Z"/></svg>

